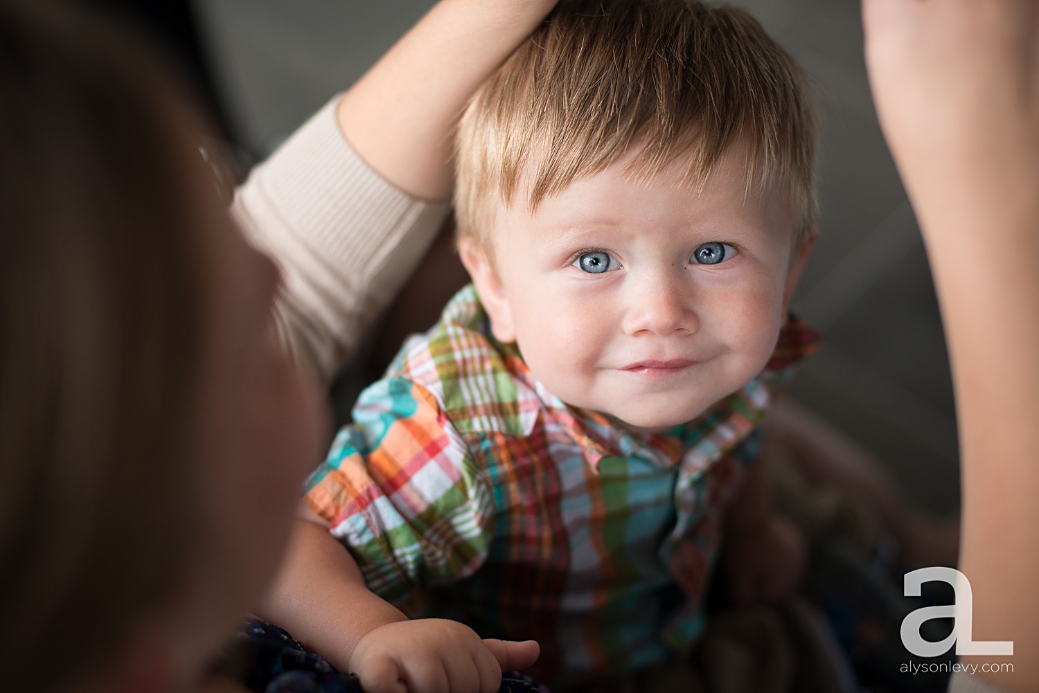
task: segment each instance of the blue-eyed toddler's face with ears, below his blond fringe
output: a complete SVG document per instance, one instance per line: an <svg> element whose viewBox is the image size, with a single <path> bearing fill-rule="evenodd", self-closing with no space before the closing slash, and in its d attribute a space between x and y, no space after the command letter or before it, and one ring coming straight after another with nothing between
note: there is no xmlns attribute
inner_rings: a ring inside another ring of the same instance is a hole
<svg viewBox="0 0 1039 693"><path fill-rule="evenodd" d="M745 193L727 155L697 193L671 166L621 160L547 198L499 210L495 263L462 259L496 338L567 404L635 428L681 424L756 376L809 243L777 194Z"/></svg>

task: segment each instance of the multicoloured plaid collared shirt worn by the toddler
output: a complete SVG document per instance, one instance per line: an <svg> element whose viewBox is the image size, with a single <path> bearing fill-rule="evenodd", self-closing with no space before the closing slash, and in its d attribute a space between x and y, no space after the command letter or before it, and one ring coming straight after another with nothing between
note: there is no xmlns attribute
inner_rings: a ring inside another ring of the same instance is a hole
<svg viewBox="0 0 1039 693"><path fill-rule="evenodd" d="M760 377L637 434L547 392L467 287L362 393L307 502L372 591L399 603L427 588L425 615L537 639L544 681L650 666L701 631L770 389L816 341L791 318Z"/></svg>

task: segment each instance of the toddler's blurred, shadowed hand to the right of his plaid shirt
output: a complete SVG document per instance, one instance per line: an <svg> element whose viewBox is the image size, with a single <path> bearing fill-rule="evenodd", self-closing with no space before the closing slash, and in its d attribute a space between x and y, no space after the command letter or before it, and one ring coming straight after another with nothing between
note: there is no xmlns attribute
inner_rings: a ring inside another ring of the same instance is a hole
<svg viewBox="0 0 1039 693"><path fill-rule="evenodd" d="M800 531L773 512L731 537L721 567L732 603L748 606L793 594L806 560Z"/></svg>

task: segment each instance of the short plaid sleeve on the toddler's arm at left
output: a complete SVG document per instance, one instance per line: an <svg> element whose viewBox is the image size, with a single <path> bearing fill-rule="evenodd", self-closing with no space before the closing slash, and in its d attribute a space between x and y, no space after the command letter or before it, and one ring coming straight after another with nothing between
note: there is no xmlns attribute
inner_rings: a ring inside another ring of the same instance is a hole
<svg viewBox="0 0 1039 693"><path fill-rule="evenodd" d="M305 502L390 602L472 575L494 527L486 475L435 396L400 377L362 393Z"/></svg>

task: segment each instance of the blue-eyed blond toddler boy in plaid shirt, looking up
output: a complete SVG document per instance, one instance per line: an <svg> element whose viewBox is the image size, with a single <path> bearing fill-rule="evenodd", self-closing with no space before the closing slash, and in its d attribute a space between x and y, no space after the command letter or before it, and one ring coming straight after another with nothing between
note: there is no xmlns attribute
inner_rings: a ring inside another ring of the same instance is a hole
<svg viewBox="0 0 1039 693"><path fill-rule="evenodd" d="M456 192L473 285L308 484L349 549L315 588L357 605L312 644L366 689L455 687L482 657L379 601L417 588L424 614L536 638L535 675L564 688L687 652L723 534L736 596L792 586L798 544L751 461L811 343L787 314L815 233L802 81L741 10L582 0L477 94Z"/></svg>

